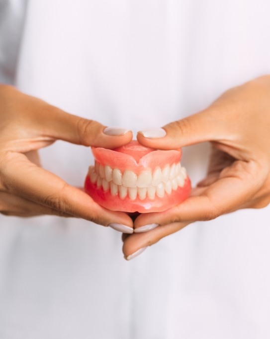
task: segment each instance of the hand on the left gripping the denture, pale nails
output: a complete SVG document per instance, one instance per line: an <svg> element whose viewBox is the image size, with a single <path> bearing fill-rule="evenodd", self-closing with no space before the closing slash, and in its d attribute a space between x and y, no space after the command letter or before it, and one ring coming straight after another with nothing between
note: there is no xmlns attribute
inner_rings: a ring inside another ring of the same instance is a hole
<svg viewBox="0 0 270 339"><path fill-rule="evenodd" d="M41 168L37 150L57 139L114 148L129 142L132 133L106 135L104 126L95 121L0 85L0 212L75 216L101 225L114 222L133 227L126 213L99 206L83 190Z"/></svg>

